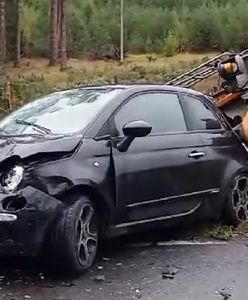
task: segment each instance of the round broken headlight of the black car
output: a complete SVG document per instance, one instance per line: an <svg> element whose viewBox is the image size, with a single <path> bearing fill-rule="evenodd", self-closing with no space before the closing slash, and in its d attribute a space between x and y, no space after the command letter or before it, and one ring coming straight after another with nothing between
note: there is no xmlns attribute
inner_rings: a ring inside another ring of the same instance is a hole
<svg viewBox="0 0 248 300"><path fill-rule="evenodd" d="M24 168L20 165L15 165L2 174L1 185L2 188L9 193L14 192L22 181Z"/></svg>

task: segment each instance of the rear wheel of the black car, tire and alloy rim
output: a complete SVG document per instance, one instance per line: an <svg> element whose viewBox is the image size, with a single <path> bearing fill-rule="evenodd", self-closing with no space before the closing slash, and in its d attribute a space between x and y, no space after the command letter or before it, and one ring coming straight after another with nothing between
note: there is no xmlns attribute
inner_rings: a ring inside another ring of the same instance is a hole
<svg viewBox="0 0 248 300"><path fill-rule="evenodd" d="M237 226L248 220L248 175L235 177L224 207L224 221Z"/></svg>

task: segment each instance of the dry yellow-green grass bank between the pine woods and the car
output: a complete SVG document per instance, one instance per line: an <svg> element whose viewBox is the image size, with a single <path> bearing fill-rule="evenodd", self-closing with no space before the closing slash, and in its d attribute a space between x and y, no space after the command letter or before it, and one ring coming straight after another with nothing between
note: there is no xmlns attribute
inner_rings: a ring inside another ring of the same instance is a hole
<svg viewBox="0 0 248 300"><path fill-rule="evenodd" d="M181 53L174 57L155 54L129 55L123 64L113 61L89 61L84 58L70 59L68 68L63 72L59 66L49 67L47 59L23 59L19 68L14 68L13 63L9 63L6 74L8 80L13 82L11 98L16 106L37 95L75 86L114 83L164 84L177 74L188 71L215 55L216 53ZM150 62L149 56L152 57ZM210 78L198 84L196 88L207 91L216 83L216 78ZM4 101L4 95L1 93L0 99Z"/></svg>

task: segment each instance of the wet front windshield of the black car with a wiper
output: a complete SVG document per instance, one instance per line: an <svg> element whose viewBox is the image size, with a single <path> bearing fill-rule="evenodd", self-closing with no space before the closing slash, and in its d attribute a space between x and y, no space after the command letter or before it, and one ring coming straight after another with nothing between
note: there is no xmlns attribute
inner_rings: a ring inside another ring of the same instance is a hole
<svg viewBox="0 0 248 300"><path fill-rule="evenodd" d="M119 92L118 89L73 89L38 98L0 122L1 134L35 132L70 134L84 129Z"/></svg>

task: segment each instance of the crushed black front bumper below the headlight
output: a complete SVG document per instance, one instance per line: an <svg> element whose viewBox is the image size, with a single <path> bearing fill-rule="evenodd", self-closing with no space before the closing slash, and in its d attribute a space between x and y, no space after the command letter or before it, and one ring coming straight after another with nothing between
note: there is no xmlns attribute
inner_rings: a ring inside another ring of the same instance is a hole
<svg viewBox="0 0 248 300"><path fill-rule="evenodd" d="M38 255L63 207L31 186L12 195L0 193L0 255Z"/></svg>

